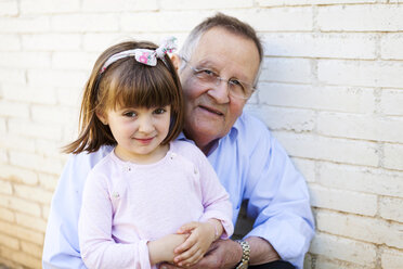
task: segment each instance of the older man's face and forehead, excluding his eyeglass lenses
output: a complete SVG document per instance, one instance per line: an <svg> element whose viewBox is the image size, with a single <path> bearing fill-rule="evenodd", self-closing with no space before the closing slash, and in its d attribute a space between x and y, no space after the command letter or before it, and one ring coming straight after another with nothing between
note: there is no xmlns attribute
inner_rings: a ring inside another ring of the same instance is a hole
<svg viewBox="0 0 403 269"><path fill-rule="evenodd" d="M202 36L187 61L180 71L185 98L184 131L206 153L211 142L231 130L247 100L229 95L225 81L204 86L191 66L212 71L225 80L252 85L259 68L259 52L252 40L216 27Z"/></svg>

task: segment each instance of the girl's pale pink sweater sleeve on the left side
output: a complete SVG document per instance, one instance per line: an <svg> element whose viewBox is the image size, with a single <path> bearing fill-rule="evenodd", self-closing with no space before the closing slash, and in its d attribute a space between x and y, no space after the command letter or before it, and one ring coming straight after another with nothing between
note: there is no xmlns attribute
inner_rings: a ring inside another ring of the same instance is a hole
<svg viewBox="0 0 403 269"><path fill-rule="evenodd" d="M113 206L107 180L102 172L92 170L87 179L78 236L81 257L88 268L150 269L147 241L116 243L112 236Z"/></svg>

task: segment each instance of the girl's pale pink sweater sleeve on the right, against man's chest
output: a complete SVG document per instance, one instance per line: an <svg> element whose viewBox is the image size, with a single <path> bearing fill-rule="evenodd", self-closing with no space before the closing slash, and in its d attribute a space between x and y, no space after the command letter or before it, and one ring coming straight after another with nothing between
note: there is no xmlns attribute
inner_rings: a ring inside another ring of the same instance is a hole
<svg viewBox="0 0 403 269"><path fill-rule="evenodd" d="M200 221L216 218L221 221L224 229L221 239L230 238L234 232L234 225L232 223L232 205L229 200L229 194L221 185L218 176L205 157L199 152L198 168L200 174L200 187L203 196L203 206L205 212Z"/></svg>

